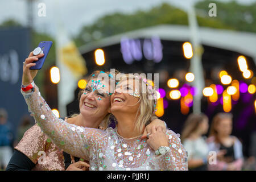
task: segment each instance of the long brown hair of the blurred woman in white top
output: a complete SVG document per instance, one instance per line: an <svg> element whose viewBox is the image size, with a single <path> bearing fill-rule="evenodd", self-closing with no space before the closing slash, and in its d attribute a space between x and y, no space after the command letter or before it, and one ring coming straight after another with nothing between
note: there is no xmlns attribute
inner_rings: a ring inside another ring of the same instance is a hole
<svg viewBox="0 0 256 182"><path fill-rule="evenodd" d="M200 123L203 122L205 119L208 120L208 117L203 113L189 114L187 120L184 123L183 130L181 131L181 142L183 142L184 139L188 138L191 133L196 131Z"/></svg>

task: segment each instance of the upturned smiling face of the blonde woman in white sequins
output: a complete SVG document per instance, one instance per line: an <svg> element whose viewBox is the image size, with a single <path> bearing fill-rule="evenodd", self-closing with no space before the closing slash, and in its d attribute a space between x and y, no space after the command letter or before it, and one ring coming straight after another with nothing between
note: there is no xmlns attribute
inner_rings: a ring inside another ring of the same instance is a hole
<svg viewBox="0 0 256 182"><path fill-rule="evenodd" d="M137 84L135 82L137 81ZM123 80L115 86L111 96L111 112L136 114L139 109L139 81L133 78ZM133 96L132 96L133 95ZM135 95L135 96L134 96ZM137 97L136 97L137 95Z"/></svg>

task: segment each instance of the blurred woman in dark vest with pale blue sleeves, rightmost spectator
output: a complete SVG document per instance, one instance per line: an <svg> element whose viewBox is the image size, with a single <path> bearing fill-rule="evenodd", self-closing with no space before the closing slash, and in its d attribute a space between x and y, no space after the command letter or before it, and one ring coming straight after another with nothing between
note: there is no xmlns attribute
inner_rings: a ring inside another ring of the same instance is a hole
<svg viewBox="0 0 256 182"><path fill-rule="evenodd" d="M218 113L214 116L207 140L210 151L224 151L224 155L217 158L216 164L208 165L209 170L238 171L242 169L242 144L232 133L233 115Z"/></svg>

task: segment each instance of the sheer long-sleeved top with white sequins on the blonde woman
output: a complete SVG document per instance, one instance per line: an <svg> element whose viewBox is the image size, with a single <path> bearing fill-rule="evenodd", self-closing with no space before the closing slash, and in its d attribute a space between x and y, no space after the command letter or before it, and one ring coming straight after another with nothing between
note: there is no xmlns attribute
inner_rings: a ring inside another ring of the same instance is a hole
<svg viewBox="0 0 256 182"><path fill-rule="evenodd" d="M57 118L37 86L32 93L21 92L44 133L68 154L89 160L90 170L188 170L187 152L174 131L166 131L171 151L155 155L141 136L126 139L118 135L116 128L103 131Z"/></svg>

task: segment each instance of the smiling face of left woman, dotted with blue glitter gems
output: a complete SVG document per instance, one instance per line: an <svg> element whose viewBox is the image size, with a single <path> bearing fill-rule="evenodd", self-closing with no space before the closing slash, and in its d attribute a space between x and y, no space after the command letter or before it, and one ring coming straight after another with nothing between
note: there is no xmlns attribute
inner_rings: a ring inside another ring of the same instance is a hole
<svg viewBox="0 0 256 182"><path fill-rule="evenodd" d="M92 84L92 80L90 80L80 97L80 113L87 118L103 119L110 111L109 83L107 81L100 81L98 84L100 86ZM104 87L102 87L103 85Z"/></svg>

